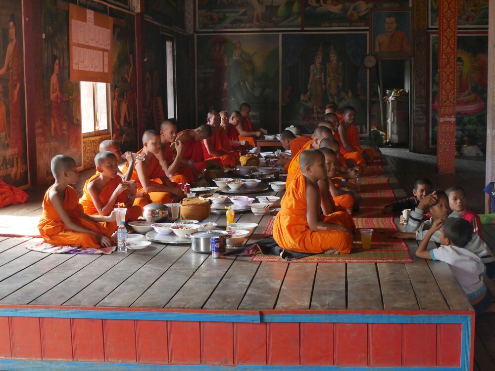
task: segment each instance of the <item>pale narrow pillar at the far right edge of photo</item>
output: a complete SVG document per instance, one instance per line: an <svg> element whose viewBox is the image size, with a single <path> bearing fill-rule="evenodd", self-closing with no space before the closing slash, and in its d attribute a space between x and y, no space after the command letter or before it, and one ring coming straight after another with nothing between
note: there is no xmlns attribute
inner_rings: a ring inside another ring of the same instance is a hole
<svg viewBox="0 0 495 371"><path fill-rule="evenodd" d="M489 7L488 23L488 60L495 58L495 6ZM492 86L492 88L490 88ZM488 64L488 97L487 97L487 165L486 181L495 179L495 64ZM488 210L485 210L488 212ZM493 212L493 211L492 211Z"/></svg>

